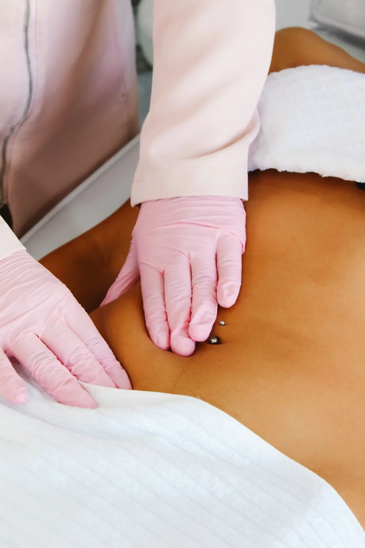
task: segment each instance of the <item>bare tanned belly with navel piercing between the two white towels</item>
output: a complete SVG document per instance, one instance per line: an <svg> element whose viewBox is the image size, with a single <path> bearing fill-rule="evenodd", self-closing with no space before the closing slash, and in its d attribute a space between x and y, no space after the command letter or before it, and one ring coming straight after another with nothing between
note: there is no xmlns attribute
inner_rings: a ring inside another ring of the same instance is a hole
<svg viewBox="0 0 365 548"><path fill-rule="evenodd" d="M254 173L246 211L241 294L213 329L221 345L190 358L157 349L139 286L93 319L135 389L224 410L324 478L365 528L365 192Z"/></svg>

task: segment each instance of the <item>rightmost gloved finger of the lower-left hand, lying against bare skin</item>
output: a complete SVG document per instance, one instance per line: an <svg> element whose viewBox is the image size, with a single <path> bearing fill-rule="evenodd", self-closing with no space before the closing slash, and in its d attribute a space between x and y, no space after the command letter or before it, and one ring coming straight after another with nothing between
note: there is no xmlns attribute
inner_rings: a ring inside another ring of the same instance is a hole
<svg viewBox="0 0 365 548"><path fill-rule="evenodd" d="M78 302L75 301L74 307L67 307L65 320L68 328L90 350L91 354L96 358L96 362L100 363L101 367L112 379L114 385L117 388L130 390L132 385L128 375L117 359L115 359L106 341L102 338L94 323L92 323L92 319ZM105 386L112 385L108 384Z"/></svg>

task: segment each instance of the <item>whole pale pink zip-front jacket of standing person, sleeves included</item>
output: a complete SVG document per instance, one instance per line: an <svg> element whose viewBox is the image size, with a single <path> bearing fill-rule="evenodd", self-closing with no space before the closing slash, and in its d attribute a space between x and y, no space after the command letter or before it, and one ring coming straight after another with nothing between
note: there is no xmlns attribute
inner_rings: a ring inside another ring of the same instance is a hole
<svg viewBox="0 0 365 548"><path fill-rule="evenodd" d="M134 26L129 0L8 0L0 28L0 198L21 236L138 132ZM274 32L274 0L155 0L133 204L247 199ZM21 247L0 219L0 259Z"/></svg>

